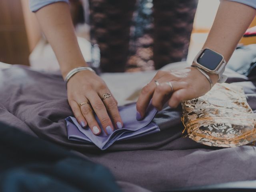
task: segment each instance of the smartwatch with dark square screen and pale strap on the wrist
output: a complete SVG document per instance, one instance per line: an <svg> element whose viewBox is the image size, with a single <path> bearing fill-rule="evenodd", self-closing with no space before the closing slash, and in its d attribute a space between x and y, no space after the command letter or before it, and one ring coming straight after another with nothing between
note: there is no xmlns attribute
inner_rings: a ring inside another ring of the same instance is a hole
<svg viewBox="0 0 256 192"><path fill-rule="evenodd" d="M209 48L202 49L193 60L192 66L200 68L205 72L218 75L218 83L223 83L227 80L227 76L223 75L226 61L224 57L214 50Z"/></svg>

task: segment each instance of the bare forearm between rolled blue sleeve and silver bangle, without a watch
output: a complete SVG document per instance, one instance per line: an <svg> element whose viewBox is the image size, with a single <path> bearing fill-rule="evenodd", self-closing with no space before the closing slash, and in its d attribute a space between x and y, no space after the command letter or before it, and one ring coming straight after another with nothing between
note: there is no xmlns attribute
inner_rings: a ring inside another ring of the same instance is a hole
<svg viewBox="0 0 256 192"><path fill-rule="evenodd" d="M63 77L73 68L87 66L78 46L67 3L45 6L36 12L36 17L55 52Z"/></svg>

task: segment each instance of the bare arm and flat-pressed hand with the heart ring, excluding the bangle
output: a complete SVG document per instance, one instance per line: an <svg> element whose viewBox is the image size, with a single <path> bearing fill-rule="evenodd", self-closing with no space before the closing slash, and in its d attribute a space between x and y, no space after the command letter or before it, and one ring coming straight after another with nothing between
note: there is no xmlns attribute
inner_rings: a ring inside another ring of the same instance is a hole
<svg viewBox="0 0 256 192"><path fill-rule="evenodd" d="M56 54L63 78L70 70L87 66L78 46L66 2L48 4L36 12L36 17ZM103 94L110 93L110 90L94 72L86 70L76 73L68 81L67 91L68 103L82 127L88 124L95 135L100 134L95 112L106 134L111 134L114 128L122 128L117 102L113 96L102 100ZM79 106L79 103L84 104Z"/></svg>

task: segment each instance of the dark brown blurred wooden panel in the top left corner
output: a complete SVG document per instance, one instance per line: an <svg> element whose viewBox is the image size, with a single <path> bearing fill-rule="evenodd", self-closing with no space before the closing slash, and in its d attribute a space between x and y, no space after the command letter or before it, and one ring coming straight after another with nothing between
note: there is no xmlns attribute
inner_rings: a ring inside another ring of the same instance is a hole
<svg viewBox="0 0 256 192"><path fill-rule="evenodd" d="M0 0L0 61L29 65L29 54L20 0Z"/></svg>

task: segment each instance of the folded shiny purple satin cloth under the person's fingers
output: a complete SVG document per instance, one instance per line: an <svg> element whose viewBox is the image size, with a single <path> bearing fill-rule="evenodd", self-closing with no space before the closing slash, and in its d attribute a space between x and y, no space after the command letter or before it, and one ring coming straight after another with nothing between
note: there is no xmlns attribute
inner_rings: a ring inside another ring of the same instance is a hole
<svg viewBox="0 0 256 192"><path fill-rule="evenodd" d="M122 129L114 130L110 135L106 135L104 131L100 135L96 136L92 133L90 128L82 128L74 117L67 117L67 132L68 139L82 142L92 142L101 150L105 150L111 146L116 140L125 140L129 138L136 138L159 132L159 127L152 122L152 119L157 113L157 110L149 105L146 117L138 121L136 120L136 104L119 107L119 113L123 120L124 127ZM101 126L100 121L96 116L98 124ZM100 127L102 129L102 127ZM103 129L102 129L103 130Z"/></svg>

